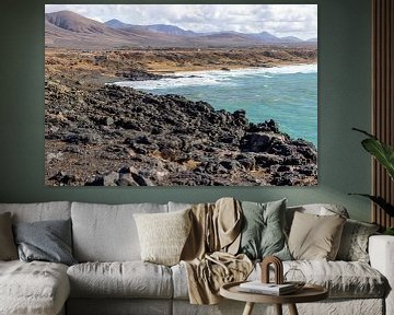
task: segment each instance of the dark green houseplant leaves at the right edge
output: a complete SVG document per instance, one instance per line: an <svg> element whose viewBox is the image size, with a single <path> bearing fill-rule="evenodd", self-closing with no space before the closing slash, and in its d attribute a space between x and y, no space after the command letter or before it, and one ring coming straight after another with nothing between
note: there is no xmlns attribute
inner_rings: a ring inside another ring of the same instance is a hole
<svg viewBox="0 0 394 315"><path fill-rule="evenodd" d="M371 153L378 160L379 163L381 163L384 166L391 179L394 180L394 149L389 144L383 143L375 136L368 133L364 130L357 128L352 128L352 129L368 136L367 139L363 139L361 141L362 147L369 153ZM368 195L368 194L351 194L351 195L359 195L371 199L380 208L382 208L390 217L394 217L394 205L387 202L383 197ZM385 231L385 233L394 235L394 226L389 228Z"/></svg>

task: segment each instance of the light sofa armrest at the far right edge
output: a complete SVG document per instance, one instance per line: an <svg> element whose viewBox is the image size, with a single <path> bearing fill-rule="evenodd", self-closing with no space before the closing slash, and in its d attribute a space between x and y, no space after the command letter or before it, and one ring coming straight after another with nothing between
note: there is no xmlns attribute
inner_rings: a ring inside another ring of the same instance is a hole
<svg viewBox="0 0 394 315"><path fill-rule="evenodd" d="M389 281L385 314L394 314L394 236L373 235L368 245L371 266Z"/></svg>

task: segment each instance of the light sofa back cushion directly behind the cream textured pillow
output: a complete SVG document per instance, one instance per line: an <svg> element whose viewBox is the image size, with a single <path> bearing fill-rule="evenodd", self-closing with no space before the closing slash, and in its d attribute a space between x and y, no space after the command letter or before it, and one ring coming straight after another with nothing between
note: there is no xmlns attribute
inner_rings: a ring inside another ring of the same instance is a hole
<svg viewBox="0 0 394 315"><path fill-rule="evenodd" d="M135 213L166 212L166 205L72 202L73 255L82 261L140 260Z"/></svg>

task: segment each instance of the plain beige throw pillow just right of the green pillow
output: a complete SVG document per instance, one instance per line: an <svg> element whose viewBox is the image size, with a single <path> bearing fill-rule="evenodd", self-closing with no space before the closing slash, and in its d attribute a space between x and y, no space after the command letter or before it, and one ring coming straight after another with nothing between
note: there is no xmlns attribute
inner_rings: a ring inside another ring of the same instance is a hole
<svg viewBox="0 0 394 315"><path fill-rule="evenodd" d="M294 213L289 248L294 259L334 260L346 219L340 215Z"/></svg>

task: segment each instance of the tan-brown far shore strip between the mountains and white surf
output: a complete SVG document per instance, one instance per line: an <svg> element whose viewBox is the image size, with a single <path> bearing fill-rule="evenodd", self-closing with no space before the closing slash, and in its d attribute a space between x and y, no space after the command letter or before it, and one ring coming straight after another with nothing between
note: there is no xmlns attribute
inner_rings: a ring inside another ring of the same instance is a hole
<svg viewBox="0 0 394 315"><path fill-rule="evenodd" d="M134 70L170 75L185 71L231 71L316 62L316 47L45 50L46 77L67 80L70 85L78 80L85 85L104 85L107 82L129 79Z"/></svg>

